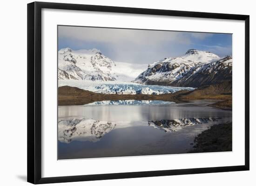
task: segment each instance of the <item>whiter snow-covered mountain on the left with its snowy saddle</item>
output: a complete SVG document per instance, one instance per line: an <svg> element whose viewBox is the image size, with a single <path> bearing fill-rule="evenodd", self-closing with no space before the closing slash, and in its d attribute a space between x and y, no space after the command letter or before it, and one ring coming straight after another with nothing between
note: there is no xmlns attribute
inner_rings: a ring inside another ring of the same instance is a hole
<svg viewBox="0 0 256 186"><path fill-rule="evenodd" d="M58 51L58 79L90 81L131 81L146 68L145 64L115 62L97 49Z"/></svg>

